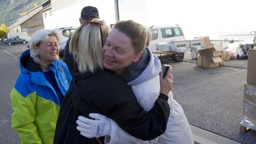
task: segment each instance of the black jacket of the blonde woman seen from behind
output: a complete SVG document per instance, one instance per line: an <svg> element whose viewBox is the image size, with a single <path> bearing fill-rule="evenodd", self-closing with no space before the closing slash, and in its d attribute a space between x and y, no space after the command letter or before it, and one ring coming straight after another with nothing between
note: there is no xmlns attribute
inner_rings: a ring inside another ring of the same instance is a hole
<svg viewBox="0 0 256 144"><path fill-rule="evenodd" d="M169 117L167 95L160 94L152 110L143 111L130 87L110 71L74 76L60 107L54 143L97 143L76 130L82 115L100 113L132 136L151 140L165 132Z"/></svg>

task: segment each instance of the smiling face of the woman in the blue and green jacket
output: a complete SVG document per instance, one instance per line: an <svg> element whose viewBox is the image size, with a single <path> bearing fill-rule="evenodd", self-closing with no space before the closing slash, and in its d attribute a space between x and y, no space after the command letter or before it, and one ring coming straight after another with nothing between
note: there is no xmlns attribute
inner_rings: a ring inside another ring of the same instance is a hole
<svg viewBox="0 0 256 144"><path fill-rule="evenodd" d="M51 62L59 59L59 42L55 36L49 38L35 47L39 55L41 65L49 65Z"/></svg>

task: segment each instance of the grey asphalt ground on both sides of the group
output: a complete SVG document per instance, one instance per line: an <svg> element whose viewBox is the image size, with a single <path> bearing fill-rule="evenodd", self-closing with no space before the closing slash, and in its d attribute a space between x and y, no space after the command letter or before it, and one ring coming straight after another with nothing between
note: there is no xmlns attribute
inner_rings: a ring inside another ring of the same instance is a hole
<svg viewBox="0 0 256 144"><path fill-rule="evenodd" d="M18 57L27 44L7 46L0 42L0 48L0 143L20 143L17 132L11 129L9 92L20 73ZM239 133L247 60L225 61L225 65L212 69L196 67L196 61L189 56L180 63L163 63L172 65L172 92L191 125L236 142L256 142L254 130Z"/></svg>

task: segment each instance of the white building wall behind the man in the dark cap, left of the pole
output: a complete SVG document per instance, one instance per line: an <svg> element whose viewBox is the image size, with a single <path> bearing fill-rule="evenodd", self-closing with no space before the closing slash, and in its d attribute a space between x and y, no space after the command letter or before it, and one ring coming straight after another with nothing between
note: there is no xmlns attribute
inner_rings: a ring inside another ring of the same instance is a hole
<svg viewBox="0 0 256 144"><path fill-rule="evenodd" d="M44 17L45 29L79 26L82 8L91 5L97 7L101 20L107 24L116 23L114 0L52 0L52 16Z"/></svg>

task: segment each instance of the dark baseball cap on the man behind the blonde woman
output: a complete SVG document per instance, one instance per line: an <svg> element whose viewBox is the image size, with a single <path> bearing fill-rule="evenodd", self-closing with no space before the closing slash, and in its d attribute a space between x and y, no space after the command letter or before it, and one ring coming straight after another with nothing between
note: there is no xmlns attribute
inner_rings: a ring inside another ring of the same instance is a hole
<svg viewBox="0 0 256 144"><path fill-rule="evenodd" d="M81 11L81 18L87 20L89 17L100 18L98 15L98 9L91 6L84 7Z"/></svg>

